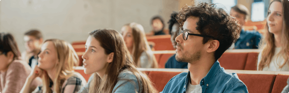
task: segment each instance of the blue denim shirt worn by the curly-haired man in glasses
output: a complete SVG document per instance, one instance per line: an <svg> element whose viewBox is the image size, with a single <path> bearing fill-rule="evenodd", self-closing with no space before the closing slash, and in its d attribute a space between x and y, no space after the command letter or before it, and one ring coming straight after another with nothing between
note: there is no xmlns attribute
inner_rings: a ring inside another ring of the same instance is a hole
<svg viewBox="0 0 289 93"><path fill-rule="evenodd" d="M160 93L186 93L190 72L174 76ZM202 93L248 93L245 84L236 73L228 73L217 60L207 75L200 81Z"/></svg>

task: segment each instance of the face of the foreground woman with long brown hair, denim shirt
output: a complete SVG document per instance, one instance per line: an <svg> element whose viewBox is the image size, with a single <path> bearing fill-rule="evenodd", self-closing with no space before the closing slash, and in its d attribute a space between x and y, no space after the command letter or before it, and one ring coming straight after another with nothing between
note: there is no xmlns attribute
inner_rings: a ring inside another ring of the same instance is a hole
<svg viewBox="0 0 289 93"><path fill-rule="evenodd" d="M89 36L85 43L85 53L82 55L84 73L105 72L108 66L107 58L108 55L99 41Z"/></svg>

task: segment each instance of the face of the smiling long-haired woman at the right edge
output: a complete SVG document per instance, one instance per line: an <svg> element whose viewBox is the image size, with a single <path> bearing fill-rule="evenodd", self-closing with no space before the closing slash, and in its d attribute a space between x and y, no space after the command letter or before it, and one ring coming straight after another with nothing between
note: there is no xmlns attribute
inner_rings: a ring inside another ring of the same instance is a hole
<svg viewBox="0 0 289 93"><path fill-rule="evenodd" d="M283 9L281 2L272 2L268 10L268 30L271 33L281 33L283 27Z"/></svg>

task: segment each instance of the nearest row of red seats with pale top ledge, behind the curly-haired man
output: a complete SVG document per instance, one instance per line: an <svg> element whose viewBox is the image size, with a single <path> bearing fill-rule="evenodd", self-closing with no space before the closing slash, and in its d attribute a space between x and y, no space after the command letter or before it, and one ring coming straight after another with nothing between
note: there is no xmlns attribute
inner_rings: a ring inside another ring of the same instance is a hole
<svg viewBox="0 0 289 93"><path fill-rule="evenodd" d="M155 88L160 92L167 82L174 76L182 72L188 72L188 69L144 69L138 70L146 73ZM84 76L86 80L90 75L83 72L83 67L77 67L76 72ZM249 93L280 93L287 85L289 72L271 72L271 71L247 71L247 70L226 70L229 73L237 73L239 79L245 83ZM250 73L250 74L248 74Z"/></svg>

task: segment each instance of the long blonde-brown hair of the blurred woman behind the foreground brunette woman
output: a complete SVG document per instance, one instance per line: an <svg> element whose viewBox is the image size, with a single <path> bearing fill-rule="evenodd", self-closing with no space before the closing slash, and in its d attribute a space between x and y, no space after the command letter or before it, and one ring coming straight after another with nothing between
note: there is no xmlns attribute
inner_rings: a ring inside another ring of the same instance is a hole
<svg viewBox="0 0 289 93"><path fill-rule="evenodd" d="M158 68L158 62L157 62L154 54L152 54L152 50L149 47L149 43L145 37L143 26L141 26L140 24L137 24L137 23L125 24L124 26L129 26L131 28L131 31L132 31L132 37L133 37L134 43L133 43L133 49L132 49L131 54L133 56L133 60L135 62L135 65L137 67L141 67L140 66L140 55L141 55L141 53L146 52L146 54L149 57L148 59L153 60L152 68ZM152 55L152 57L149 55Z"/></svg>

